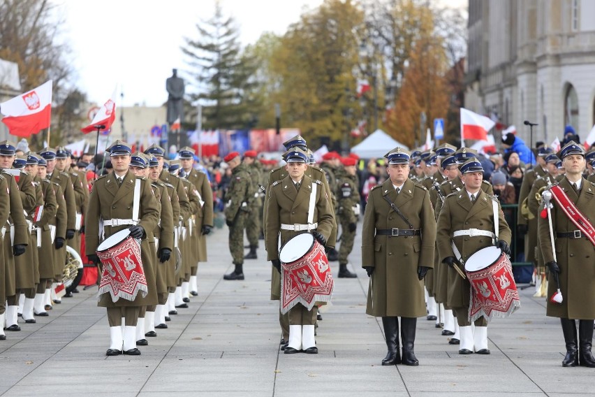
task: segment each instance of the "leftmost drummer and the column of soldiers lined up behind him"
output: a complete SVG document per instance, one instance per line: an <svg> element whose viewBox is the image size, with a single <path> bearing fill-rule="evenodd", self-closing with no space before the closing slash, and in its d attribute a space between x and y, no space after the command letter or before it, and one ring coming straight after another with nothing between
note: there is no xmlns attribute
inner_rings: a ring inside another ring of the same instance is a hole
<svg viewBox="0 0 595 397"><path fill-rule="evenodd" d="M188 308L190 297L198 295L196 274L198 263L207 260L213 195L207 175L193 168L190 147L179 150L172 161L164 159L165 150L157 145L132 154L130 145L117 140L108 152L113 171L98 178L91 190L85 250L101 268L96 250L103 240L124 229L140 240L146 294L127 300L104 293L98 302L108 312L106 354L140 355L137 346L148 345L146 337L168 328L170 316Z"/></svg>

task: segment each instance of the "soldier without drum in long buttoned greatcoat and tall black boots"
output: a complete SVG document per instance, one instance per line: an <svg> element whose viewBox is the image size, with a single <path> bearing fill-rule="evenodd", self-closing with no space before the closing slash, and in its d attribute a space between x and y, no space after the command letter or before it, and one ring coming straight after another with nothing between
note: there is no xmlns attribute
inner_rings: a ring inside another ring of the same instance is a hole
<svg viewBox="0 0 595 397"><path fill-rule="evenodd" d="M419 365L417 317L426 315L423 279L434 266L434 211L427 189L409 180L409 156L401 147L385 155L389 178L369 193L362 229L362 268L370 277L366 313L382 317L383 366Z"/></svg>

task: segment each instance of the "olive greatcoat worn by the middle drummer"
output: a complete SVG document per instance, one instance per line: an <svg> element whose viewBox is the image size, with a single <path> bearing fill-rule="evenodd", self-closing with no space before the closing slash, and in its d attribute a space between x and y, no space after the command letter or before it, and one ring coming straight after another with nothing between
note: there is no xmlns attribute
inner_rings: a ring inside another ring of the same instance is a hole
<svg viewBox="0 0 595 397"><path fill-rule="evenodd" d="M281 224L307 224L308 208L312 185L316 183L316 200L312 222L318 222L316 228L325 238L330 236L335 225L335 210L332 208L329 196L321 184L304 175L298 192L293 185L293 180L286 176L272 187L267 189L267 221L265 223L265 246L267 248L267 261L279 259L279 236L281 246L294 236L305 231L281 230ZM272 268L276 277L271 280L271 299L279 300L281 296L281 276L277 269ZM273 274L274 274L273 273Z"/></svg>

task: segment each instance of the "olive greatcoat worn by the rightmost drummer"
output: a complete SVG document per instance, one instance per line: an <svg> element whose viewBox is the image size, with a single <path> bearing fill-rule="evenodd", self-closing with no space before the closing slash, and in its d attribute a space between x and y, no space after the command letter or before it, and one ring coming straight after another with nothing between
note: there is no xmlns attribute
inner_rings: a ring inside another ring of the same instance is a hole
<svg viewBox="0 0 595 397"><path fill-rule="evenodd" d="M456 257L451 243L453 232L467 229L487 230L494 233L494 209L492 201L497 203L499 240L510 245L512 233L504 219L504 213L496 196L491 196L483 190L479 191L475 203L471 203L467 190L449 194L444 199L444 206L438 217L436 240L440 255L440 266L448 268L448 296L446 304L449 308L464 308L469 306L471 284L463 279L456 270L449 268L442 261L446 257ZM454 238L457 250L463 261L466 261L478 250L494 245L492 238L487 236L457 236ZM488 264L486 264L488 265ZM457 266L457 265L455 265Z"/></svg>

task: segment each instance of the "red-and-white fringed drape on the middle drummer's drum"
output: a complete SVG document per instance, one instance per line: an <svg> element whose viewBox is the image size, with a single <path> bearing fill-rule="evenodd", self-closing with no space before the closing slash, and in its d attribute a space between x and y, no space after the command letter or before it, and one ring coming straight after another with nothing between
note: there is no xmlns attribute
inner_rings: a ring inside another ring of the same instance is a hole
<svg viewBox="0 0 595 397"><path fill-rule="evenodd" d="M334 285L324 247L316 241L300 260L281 265L281 313L298 303L311 310L316 302L330 302Z"/></svg>

